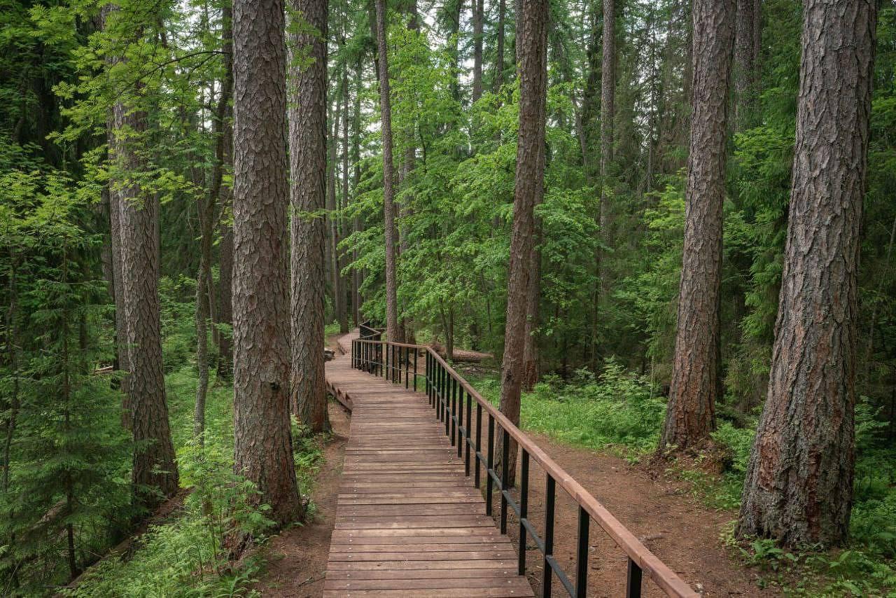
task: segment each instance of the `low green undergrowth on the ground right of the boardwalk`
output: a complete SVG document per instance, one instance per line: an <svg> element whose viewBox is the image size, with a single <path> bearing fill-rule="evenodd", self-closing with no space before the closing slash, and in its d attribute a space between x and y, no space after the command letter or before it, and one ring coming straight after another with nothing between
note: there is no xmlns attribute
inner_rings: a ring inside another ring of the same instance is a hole
<svg viewBox="0 0 896 598"><path fill-rule="evenodd" d="M491 403L500 396L495 372L467 374ZM650 380L610 361L596 376L578 370L570 380L545 376L521 400L522 428L590 450L609 451L630 462L659 443L666 400ZM737 540L734 521L721 534L733 558L760 572L758 584L793 596L896 598L896 447L886 424L865 400L856 410L855 503L849 545L839 550L806 546L783 550L764 539ZM753 446L755 420L747 427L719 419L711 446L673 461L669 473L687 482L694 499L736 516Z"/></svg>

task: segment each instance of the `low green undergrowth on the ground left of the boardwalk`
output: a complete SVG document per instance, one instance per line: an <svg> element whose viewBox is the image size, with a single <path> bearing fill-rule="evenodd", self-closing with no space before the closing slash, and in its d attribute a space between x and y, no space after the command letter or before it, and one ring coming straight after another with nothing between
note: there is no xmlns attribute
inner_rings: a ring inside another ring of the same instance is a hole
<svg viewBox="0 0 896 598"><path fill-rule="evenodd" d="M196 374L185 366L166 377L171 431L181 486L190 489L182 507L151 525L122 556L110 556L82 576L66 595L158 597L259 595L252 586L264 567L264 550L228 561L225 538L251 533L263 547L268 508L250 507L254 485L233 473L233 390L212 380L206 405L205 445L192 438ZM297 478L308 496L323 464L322 438L293 428ZM314 516L313 503L307 506Z"/></svg>

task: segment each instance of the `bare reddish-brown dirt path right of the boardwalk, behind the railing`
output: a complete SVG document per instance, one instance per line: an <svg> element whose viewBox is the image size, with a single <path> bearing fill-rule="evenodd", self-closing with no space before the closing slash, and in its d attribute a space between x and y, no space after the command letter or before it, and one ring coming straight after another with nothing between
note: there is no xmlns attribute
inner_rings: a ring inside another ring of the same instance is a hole
<svg viewBox="0 0 896 598"><path fill-rule="evenodd" d="M616 456L566 446L543 435L530 434L530 437L650 551L702 595L777 595L771 589L760 589L756 584L758 573L737 564L722 545L723 528L736 514L704 507L685 493L681 482L658 476L647 465L630 465ZM530 466L529 515L530 520L537 522L539 534L544 530L544 489L544 473L533 462ZM497 512L495 508L495 514ZM508 530L516 541L519 524L513 511L510 514ZM562 490L557 492L555 521L556 559L567 576L574 580L577 507ZM543 574L541 553L531 539L527 545L527 573L538 594ZM593 520L589 547L588 596L625 595L625 553ZM553 589L554 595L565 595L556 579ZM665 594L645 575L643 595Z"/></svg>

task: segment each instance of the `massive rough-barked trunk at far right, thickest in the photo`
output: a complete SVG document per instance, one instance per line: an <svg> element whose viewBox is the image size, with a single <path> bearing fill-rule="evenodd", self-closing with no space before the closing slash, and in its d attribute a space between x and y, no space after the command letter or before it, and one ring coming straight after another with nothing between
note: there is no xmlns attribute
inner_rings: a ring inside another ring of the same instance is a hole
<svg viewBox="0 0 896 598"><path fill-rule="evenodd" d="M738 533L846 540L852 507L857 269L874 0L808 0L797 144L769 393Z"/></svg>

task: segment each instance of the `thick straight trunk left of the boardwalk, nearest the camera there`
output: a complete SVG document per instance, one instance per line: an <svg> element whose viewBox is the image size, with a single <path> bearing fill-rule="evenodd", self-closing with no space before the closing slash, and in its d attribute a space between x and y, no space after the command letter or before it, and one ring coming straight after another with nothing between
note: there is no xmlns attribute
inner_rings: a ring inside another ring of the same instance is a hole
<svg viewBox="0 0 896 598"><path fill-rule="evenodd" d="M301 515L289 430L286 48L282 0L237 0L234 47L234 470Z"/></svg>

